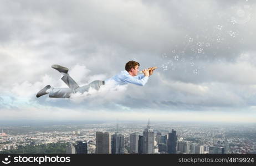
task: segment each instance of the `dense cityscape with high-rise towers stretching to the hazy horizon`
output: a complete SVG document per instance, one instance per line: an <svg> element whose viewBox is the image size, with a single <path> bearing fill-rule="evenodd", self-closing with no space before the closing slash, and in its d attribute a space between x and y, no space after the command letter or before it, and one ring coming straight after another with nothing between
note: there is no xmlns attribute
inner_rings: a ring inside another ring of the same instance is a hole
<svg viewBox="0 0 256 166"><path fill-rule="evenodd" d="M256 153L255 124L149 121L147 123L1 126L1 131L1 153L12 152L21 146L50 143L64 143L66 154Z"/></svg>

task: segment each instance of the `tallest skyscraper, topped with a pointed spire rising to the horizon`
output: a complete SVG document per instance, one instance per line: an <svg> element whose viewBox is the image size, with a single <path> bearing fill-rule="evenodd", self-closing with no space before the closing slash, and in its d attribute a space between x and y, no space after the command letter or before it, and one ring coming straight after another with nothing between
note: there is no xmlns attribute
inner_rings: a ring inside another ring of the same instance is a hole
<svg viewBox="0 0 256 166"><path fill-rule="evenodd" d="M143 148L142 153L144 154L153 154L154 153L154 132L153 129L150 128L150 123L147 125L147 128L144 129L143 132Z"/></svg>

